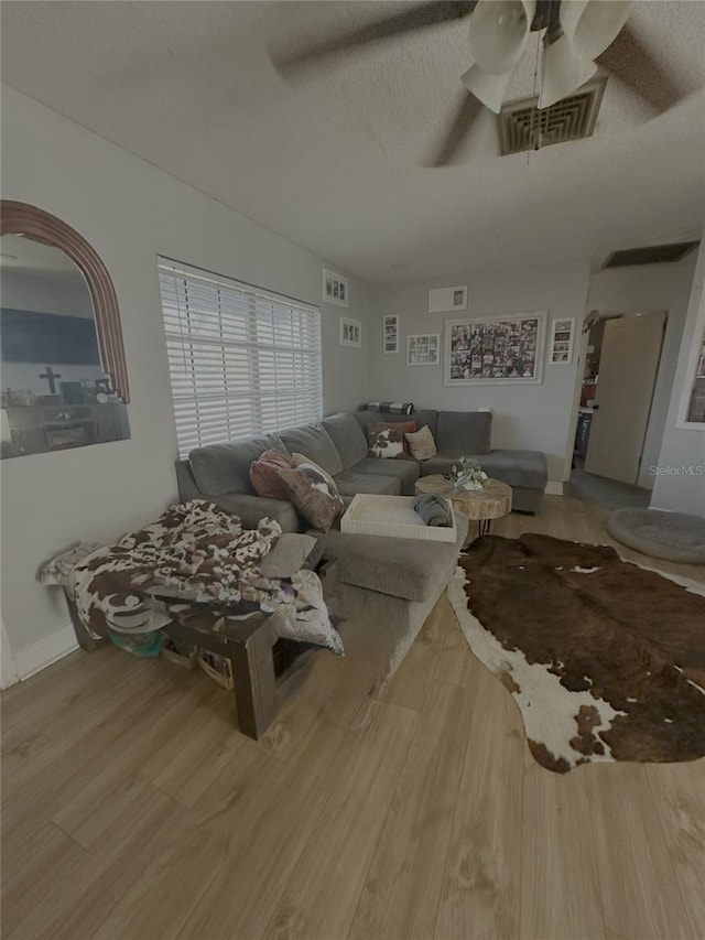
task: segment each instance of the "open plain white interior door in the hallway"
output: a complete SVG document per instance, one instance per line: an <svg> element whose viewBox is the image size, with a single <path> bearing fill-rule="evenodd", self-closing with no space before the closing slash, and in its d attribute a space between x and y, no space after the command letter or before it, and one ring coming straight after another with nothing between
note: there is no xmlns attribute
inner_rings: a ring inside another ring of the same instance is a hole
<svg viewBox="0 0 705 940"><path fill-rule="evenodd" d="M585 469L636 484L661 358L664 313L605 324Z"/></svg>

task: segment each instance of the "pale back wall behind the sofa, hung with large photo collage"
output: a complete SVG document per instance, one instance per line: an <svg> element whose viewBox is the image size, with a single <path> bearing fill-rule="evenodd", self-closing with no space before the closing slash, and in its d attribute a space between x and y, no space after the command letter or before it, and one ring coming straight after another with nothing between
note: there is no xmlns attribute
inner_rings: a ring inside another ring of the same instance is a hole
<svg viewBox="0 0 705 940"><path fill-rule="evenodd" d="M549 461L549 479L562 483L570 474L566 445L575 423L576 360L588 282L589 262L585 260L377 287L372 293L376 317L371 329L370 398L413 401L417 408L456 411L489 407L495 412L492 446L543 451ZM553 320L574 317L577 336L573 364L544 364L541 385L463 388L444 387L443 365L406 366L406 336L440 333L443 341L444 321L464 315L429 313L429 290L459 284L468 285L468 316L547 310L547 334ZM401 317L401 352L386 356L382 352L382 316L391 313Z"/></svg>

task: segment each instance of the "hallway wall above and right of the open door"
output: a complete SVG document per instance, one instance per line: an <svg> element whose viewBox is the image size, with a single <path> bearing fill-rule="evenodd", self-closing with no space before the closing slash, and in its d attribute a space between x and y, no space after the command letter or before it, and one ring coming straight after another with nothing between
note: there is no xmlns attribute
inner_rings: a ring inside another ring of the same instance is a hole
<svg viewBox="0 0 705 940"><path fill-rule="evenodd" d="M659 457L665 428L671 386L683 337L697 252L692 251L675 264L649 264L598 271L590 278L588 310L605 313L653 313L665 311L668 323L661 363L644 440L638 485L651 489L649 473Z"/></svg>

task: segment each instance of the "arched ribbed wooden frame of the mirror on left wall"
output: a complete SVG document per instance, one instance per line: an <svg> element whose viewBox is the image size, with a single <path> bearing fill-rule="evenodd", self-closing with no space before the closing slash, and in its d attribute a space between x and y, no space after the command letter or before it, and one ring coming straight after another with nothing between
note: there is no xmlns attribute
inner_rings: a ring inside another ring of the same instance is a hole
<svg viewBox="0 0 705 940"><path fill-rule="evenodd" d="M83 273L96 315L96 332L104 370L126 404L130 401L128 368L122 346L120 309L108 269L95 249L75 228L56 216L11 199L0 202L0 235L26 235L34 241L59 248Z"/></svg>

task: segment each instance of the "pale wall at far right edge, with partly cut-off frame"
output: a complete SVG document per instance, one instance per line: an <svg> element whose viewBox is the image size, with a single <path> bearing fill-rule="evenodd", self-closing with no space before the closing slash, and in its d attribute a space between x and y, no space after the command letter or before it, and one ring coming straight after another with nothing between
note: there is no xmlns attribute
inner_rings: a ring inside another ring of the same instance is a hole
<svg viewBox="0 0 705 940"><path fill-rule="evenodd" d="M651 506L675 512L705 517L705 425L679 426L685 415L685 401L693 388L693 350L699 347L705 328L705 231L697 256L693 288L683 327L683 342L665 422L665 433L654 477Z"/></svg>

